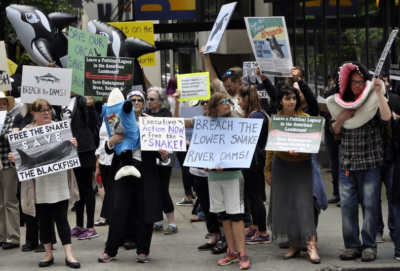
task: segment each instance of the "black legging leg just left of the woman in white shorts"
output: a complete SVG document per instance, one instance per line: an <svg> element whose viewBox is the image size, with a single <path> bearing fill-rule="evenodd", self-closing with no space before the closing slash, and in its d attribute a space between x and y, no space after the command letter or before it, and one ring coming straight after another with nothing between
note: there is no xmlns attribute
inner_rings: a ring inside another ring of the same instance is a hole
<svg viewBox="0 0 400 271"><path fill-rule="evenodd" d="M208 178L193 175L197 199L205 217L205 225L210 233L217 233L219 230L218 216L210 212L210 195L208 192Z"/></svg>

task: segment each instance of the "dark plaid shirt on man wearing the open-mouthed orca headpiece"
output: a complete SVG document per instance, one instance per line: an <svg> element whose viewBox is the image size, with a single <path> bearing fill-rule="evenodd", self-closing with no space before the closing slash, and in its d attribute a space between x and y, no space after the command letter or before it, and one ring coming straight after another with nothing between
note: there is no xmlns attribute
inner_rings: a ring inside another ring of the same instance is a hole
<svg viewBox="0 0 400 271"><path fill-rule="evenodd" d="M335 134L332 124L330 131ZM372 119L359 128L342 128L342 153L340 156L342 170L373 169L383 164L384 124L378 111Z"/></svg>

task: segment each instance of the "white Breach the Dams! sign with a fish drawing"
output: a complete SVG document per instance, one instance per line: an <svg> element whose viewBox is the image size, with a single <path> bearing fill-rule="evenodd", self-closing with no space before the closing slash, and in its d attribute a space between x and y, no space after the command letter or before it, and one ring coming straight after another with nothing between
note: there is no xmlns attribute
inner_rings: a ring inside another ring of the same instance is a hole
<svg viewBox="0 0 400 271"><path fill-rule="evenodd" d="M21 102L42 98L52 105L69 105L71 69L22 66Z"/></svg>

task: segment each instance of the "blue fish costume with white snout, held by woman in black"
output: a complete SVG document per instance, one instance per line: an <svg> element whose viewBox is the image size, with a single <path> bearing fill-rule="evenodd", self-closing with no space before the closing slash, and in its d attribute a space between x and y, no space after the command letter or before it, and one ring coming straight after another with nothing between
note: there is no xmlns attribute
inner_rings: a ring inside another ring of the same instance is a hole
<svg viewBox="0 0 400 271"><path fill-rule="evenodd" d="M125 100L120 89L116 88L110 92L108 103L103 105L101 116L106 122L108 136L115 134L125 136L122 142L114 145L116 155L121 156L120 170L115 176L119 180L124 176L133 175L140 177L140 172L132 165L132 150L140 147L139 128L136 124L133 105Z"/></svg>

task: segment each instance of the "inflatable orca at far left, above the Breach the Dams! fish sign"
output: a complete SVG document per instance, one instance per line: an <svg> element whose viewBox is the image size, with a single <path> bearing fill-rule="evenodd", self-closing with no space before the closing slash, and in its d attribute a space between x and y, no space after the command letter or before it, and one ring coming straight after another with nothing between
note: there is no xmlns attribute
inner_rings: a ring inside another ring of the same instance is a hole
<svg viewBox="0 0 400 271"><path fill-rule="evenodd" d="M7 6L5 12L33 62L38 66L55 62L57 67L67 67L68 40L61 30L78 20L77 16L47 15L36 7L15 4Z"/></svg>

